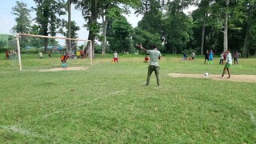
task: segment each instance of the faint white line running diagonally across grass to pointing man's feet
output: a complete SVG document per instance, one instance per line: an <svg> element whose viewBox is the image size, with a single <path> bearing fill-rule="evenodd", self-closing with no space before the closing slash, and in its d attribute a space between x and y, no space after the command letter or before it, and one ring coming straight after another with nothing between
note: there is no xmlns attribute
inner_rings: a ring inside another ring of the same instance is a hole
<svg viewBox="0 0 256 144"><path fill-rule="evenodd" d="M134 86L139 86L139 85L142 85L142 84L145 84L145 83L146 83L146 82L142 82L142 83L140 83L140 84L138 84L138 85L134 85ZM134 87L134 86L130 86L130 88L131 88L131 87ZM95 102L95 101L97 101L98 99L107 98L107 97L110 97L111 95L118 94L118 93L122 93L123 91L129 90L130 88L127 88L127 89L124 89L124 90L118 90L118 91L116 91L116 92L114 92L114 93L110 93L110 94L107 94L107 95L102 96L102 97L94 98L94 99L92 99L92 100L90 100L90 101L88 101L88 102L85 102L85 103L82 103L82 104L79 104L79 105L74 105L74 106L67 107L67 108L64 108L64 109L61 109L61 110L56 110L56 111L54 111L54 112L52 112L52 113L50 113L50 114L46 114L46 115L42 116L42 118L48 118L48 117L50 117L50 116L53 116L54 114L59 114L59 113L64 112L65 110L70 110L70 109L73 109L73 108L78 107L78 106L89 105L90 103Z"/></svg>

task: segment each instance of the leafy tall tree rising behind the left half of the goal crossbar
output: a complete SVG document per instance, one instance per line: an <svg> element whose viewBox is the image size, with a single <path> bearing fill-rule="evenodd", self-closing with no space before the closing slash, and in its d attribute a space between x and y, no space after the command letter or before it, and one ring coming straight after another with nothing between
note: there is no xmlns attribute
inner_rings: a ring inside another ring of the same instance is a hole
<svg viewBox="0 0 256 144"><path fill-rule="evenodd" d="M38 23L39 34L55 36L57 29L61 26L60 16L66 14L66 3L64 0L34 0L37 17L35 22ZM48 46L48 38L44 40L45 51Z"/></svg>

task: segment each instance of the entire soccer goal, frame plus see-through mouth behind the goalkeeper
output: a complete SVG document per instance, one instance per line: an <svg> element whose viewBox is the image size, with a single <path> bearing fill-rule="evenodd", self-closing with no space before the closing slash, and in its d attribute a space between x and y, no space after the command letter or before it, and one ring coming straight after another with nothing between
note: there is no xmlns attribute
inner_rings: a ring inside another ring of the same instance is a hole
<svg viewBox="0 0 256 144"><path fill-rule="evenodd" d="M92 65L92 42L87 39L18 34L16 40L19 70L24 66L62 67L61 58L67 54L70 66L84 66L87 59Z"/></svg>

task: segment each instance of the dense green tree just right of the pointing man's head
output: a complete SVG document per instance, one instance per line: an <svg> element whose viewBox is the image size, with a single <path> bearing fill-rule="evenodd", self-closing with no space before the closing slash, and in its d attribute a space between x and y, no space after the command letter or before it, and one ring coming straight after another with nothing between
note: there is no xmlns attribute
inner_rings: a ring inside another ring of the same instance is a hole
<svg viewBox="0 0 256 144"><path fill-rule="evenodd" d="M183 13L183 10L193 1L174 0L167 2L167 17L165 22L165 35L168 41L166 49L172 54L182 53L190 42L192 35L192 19Z"/></svg>

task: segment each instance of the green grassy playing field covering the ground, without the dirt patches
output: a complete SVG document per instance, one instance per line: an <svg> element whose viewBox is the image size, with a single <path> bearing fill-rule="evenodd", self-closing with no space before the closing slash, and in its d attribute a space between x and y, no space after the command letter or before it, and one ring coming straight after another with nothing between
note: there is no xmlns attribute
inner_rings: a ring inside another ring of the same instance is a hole
<svg viewBox="0 0 256 144"><path fill-rule="evenodd" d="M154 74L145 86L143 55L68 60L88 70L38 72L60 67L59 55L39 59L0 55L0 143L254 143L255 83L172 78L169 73L221 74L213 65L160 62L161 85ZM46 57L46 56L45 56ZM256 59L240 58L232 74L256 75Z"/></svg>

